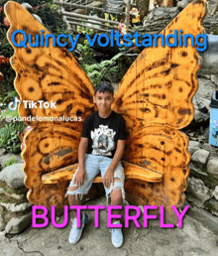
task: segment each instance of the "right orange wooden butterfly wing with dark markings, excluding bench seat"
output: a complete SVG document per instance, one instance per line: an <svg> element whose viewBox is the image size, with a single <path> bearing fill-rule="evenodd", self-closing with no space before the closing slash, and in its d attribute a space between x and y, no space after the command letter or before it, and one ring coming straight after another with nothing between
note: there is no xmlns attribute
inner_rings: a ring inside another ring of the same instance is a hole
<svg viewBox="0 0 218 256"><path fill-rule="evenodd" d="M203 32L206 9L206 1L193 1L161 34L165 38L182 30L195 38ZM197 50L188 44L163 48L160 42L158 48L145 49L115 94L114 110L125 117L130 131L124 160L163 175L162 183L126 181L128 199L136 204L180 206L184 200L190 155L188 138L178 129L193 118L192 97L201 63Z"/></svg>

